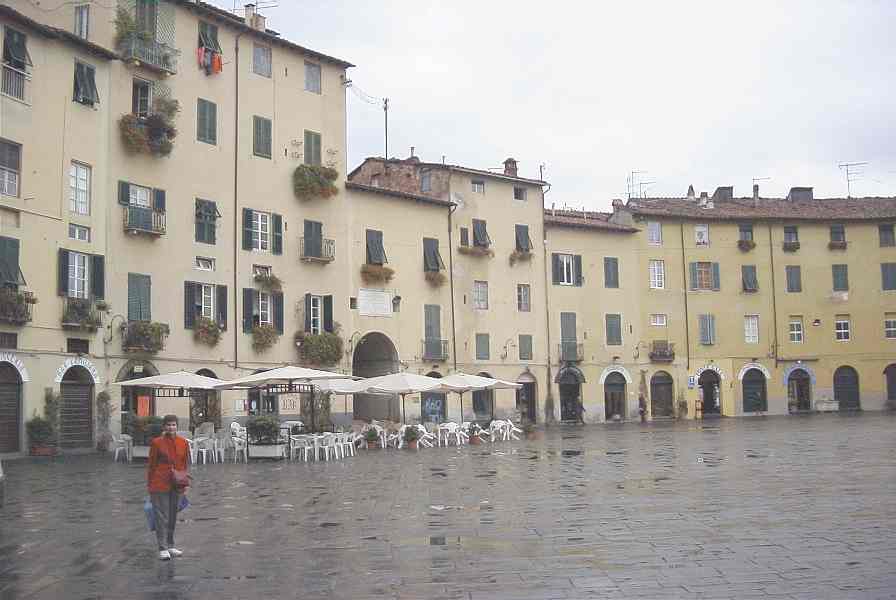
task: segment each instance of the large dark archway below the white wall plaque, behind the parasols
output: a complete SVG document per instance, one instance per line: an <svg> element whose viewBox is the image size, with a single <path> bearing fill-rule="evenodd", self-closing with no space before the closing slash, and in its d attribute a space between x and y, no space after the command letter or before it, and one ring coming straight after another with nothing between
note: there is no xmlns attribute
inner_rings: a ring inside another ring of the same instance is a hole
<svg viewBox="0 0 896 600"><path fill-rule="evenodd" d="M358 341L352 352L352 375L366 378L398 371L398 351L386 335L372 332ZM353 410L356 419L401 420L401 404L397 395L355 394Z"/></svg>

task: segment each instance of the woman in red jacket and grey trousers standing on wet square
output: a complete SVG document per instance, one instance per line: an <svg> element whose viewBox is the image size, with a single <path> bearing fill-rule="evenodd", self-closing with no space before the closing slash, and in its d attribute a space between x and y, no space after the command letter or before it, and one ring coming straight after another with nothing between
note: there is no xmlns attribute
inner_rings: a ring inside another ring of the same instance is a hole
<svg viewBox="0 0 896 600"><path fill-rule="evenodd" d="M177 417L165 415L162 435L149 446L149 462L146 467L146 483L156 521L156 539L159 542L159 560L169 560L183 554L174 547L174 526L177 509L186 486L187 440L177 435Z"/></svg>

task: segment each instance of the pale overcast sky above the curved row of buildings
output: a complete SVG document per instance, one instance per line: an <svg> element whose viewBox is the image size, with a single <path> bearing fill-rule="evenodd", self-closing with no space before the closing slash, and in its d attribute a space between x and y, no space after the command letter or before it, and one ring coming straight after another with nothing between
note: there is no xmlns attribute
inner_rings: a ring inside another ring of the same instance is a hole
<svg viewBox="0 0 896 600"><path fill-rule="evenodd" d="M232 0L215 0L232 8ZM279 0L268 26L358 65L389 154L544 165L550 205L733 185L896 195L896 2ZM384 152L348 96L349 164ZM649 183L652 182L652 183Z"/></svg>

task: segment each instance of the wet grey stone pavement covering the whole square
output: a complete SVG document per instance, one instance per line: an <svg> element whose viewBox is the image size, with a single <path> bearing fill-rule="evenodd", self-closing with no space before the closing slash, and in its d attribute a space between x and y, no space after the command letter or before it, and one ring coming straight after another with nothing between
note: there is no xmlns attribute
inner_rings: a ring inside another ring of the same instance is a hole
<svg viewBox="0 0 896 600"><path fill-rule="evenodd" d="M168 563L143 464L13 461L0 599L896 598L894 448L819 415L198 466Z"/></svg>

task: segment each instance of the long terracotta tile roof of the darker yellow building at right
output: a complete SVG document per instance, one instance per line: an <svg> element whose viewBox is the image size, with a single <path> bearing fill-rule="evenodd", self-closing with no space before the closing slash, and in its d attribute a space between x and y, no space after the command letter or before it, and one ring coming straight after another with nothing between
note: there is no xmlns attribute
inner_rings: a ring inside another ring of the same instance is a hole
<svg viewBox="0 0 896 600"><path fill-rule="evenodd" d="M736 219L781 219L794 221L864 221L896 219L896 197L733 198L715 200L713 208L702 208L687 198L633 198L626 208L637 215L725 221Z"/></svg>

